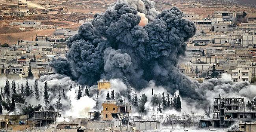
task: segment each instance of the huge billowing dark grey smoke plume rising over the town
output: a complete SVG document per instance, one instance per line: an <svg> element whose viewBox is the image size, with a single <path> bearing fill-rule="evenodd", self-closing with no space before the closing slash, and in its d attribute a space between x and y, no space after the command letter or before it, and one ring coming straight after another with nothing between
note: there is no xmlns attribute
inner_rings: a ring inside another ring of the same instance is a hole
<svg viewBox="0 0 256 132"><path fill-rule="evenodd" d="M138 6L141 2L145 7ZM177 7L162 13L150 12L154 6L149 0L118 0L105 13L96 14L92 23L80 26L78 34L67 40L66 57L72 76L88 85L100 79L126 77L136 89L145 88L148 81L154 80L171 93L179 90L184 97L197 99L195 89L199 84L177 68L180 57L185 55L185 41L195 35L196 27L182 18ZM138 26L138 11L152 18L152 22Z"/></svg>

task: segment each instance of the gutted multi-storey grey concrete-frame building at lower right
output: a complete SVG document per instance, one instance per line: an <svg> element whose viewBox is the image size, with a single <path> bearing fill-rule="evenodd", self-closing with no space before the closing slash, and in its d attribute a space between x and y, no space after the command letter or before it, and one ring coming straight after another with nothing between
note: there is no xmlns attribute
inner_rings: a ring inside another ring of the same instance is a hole
<svg viewBox="0 0 256 132"><path fill-rule="evenodd" d="M230 127L237 121L252 122L256 112L245 111L244 98L213 98L213 118L201 119L200 127Z"/></svg>

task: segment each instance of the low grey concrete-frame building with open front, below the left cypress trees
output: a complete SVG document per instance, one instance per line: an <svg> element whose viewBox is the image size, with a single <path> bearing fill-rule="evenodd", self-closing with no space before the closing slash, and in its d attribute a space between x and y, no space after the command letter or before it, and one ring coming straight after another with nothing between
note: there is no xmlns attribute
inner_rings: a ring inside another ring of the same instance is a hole
<svg viewBox="0 0 256 132"><path fill-rule="evenodd" d="M34 126L45 127L56 121L61 116L61 112L55 111L35 111Z"/></svg>

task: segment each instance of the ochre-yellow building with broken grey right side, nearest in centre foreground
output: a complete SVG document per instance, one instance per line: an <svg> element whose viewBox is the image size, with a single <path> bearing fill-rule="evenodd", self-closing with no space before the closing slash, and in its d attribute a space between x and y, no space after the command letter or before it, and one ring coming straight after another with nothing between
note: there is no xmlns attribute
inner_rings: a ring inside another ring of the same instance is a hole
<svg viewBox="0 0 256 132"><path fill-rule="evenodd" d="M103 121L111 121L119 117L128 117L132 113L132 106L129 103L118 104L114 100L105 101L102 103L103 110L101 111Z"/></svg>

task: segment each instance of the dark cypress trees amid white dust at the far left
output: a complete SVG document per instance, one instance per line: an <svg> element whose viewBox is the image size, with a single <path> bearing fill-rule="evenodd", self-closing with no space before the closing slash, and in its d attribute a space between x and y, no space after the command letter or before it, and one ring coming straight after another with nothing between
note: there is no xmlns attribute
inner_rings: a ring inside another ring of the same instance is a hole
<svg viewBox="0 0 256 132"><path fill-rule="evenodd" d="M62 104L61 104L60 89L58 91L56 104L50 104L50 100L49 100L50 95L48 93L47 82L45 82L44 89L42 90L42 87L39 89L37 80L35 80L33 86L30 86L30 84L28 83L28 80L26 81L25 86L23 85L23 83L19 85L19 82L16 85L15 81L12 81L10 84L9 80L6 80L4 90L1 88L0 114L2 114L3 109L9 112L14 111L15 103L21 103L23 105L27 105L26 99L25 99L27 97L30 97L30 98L35 97L35 99L39 101L41 99L42 94L43 94L43 100L45 102L45 108L47 110L54 110L54 106L56 106L57 110L61 110ZM63 89L63 97L65 98L64 89ZM28 112L31 113L31 111L40 110L41 107L42 107L41 105L37 105L33 107L32 105L29 104L22 111L24 114L28 114Z"/></svg>

